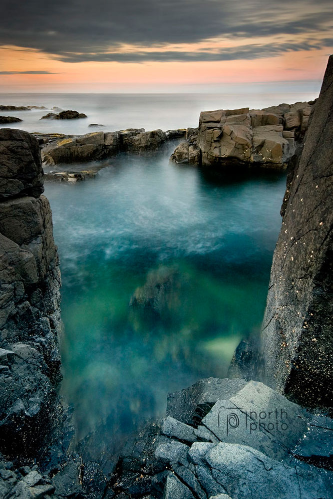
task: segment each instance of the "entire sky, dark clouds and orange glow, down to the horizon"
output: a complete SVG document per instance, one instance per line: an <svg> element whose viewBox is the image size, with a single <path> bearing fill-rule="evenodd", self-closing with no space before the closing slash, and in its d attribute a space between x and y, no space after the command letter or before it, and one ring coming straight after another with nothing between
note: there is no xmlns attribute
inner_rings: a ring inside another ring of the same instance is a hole
<svg viewBox="0 0 333 499"><path fill-rule="evenodd" d="M332 0L1 0L0 92L312 88Z"/></svg>

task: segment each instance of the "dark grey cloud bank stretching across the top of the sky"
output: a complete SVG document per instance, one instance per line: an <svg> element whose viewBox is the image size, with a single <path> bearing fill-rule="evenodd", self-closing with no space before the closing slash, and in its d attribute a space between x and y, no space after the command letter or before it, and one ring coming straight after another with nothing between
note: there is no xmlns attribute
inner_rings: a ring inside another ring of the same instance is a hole
<svg viewBox="0 0 333 499"><path fill-rule="evenodd" d="M327 26L331 0L26 0L19 5L2 0L1 3L0 44L35 48L72 62L120 60L118 53L110 58L105 52L110 47L116 50L121 44L157 48L220 36L300 33L306 33L310 41L325 30L331 36ZM153 52L155 56L141 50L137 59L159 60L154 58L158 53L158 48ZM184 59L177 60L188 60L190 56L186 54ZM224 51L221 57L227 55ZM207 51L202 51L200 57L195 60L212 60Z"/></svg>

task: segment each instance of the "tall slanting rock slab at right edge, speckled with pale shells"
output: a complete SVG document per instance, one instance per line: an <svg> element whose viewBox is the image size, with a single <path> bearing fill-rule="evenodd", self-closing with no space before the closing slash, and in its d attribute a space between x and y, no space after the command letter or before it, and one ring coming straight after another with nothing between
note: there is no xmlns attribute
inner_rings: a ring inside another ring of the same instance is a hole
<svg viewBox="0 0 333 499"><path fill-rule="evenodd" d="M285 195L262 329L268 383L333 406L333 56Z"/></svg>

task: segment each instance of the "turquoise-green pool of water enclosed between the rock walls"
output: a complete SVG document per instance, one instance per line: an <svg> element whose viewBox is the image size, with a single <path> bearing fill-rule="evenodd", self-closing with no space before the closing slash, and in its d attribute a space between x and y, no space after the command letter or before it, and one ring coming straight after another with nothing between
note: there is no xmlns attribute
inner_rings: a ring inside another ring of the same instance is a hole
<svg viewBox="0 0 333 499"><path fill-rule="evenodd" d="M225 376L260 328L285 174L215 178L169 164L173 147L45 185L63 283L62 390L79 438L163 415L169 391ZM158 284L170 271L160 310L130 306L147 276Z"/></svg>

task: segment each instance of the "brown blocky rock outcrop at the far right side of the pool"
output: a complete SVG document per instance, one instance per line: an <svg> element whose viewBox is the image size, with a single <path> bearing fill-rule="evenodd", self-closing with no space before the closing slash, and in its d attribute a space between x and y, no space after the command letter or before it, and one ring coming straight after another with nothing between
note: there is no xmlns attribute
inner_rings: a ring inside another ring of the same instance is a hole
<svg viewBox="0 0 333 499"><path fill-rule="evenodd" d="M262 110L204 111L197 134L186 137L170 160L203 166L284 168L308 126L311 105L297 102Z"/></svg>

